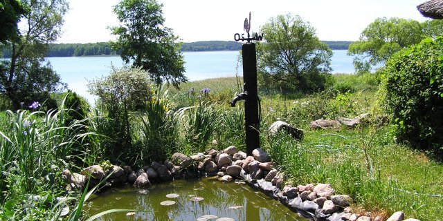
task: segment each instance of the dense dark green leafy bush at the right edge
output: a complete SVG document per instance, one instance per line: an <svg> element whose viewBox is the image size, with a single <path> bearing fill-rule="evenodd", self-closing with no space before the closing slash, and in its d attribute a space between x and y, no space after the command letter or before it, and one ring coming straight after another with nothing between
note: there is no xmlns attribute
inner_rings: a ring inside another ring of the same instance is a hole
<svg viewBox="0 0 443 221"><path fill-rule="evenodd" d="M443 38L424 39L392 56L386 74L386 102L401 140L442 151Z"/></svg>

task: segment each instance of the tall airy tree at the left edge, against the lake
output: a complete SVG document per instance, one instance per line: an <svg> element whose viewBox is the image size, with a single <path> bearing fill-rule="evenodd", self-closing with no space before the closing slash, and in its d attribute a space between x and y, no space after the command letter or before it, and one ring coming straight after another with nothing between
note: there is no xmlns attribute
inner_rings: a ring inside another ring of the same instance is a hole
<svg viewBox="0 0 443 221"><path fill-rule="evenodd" d="M60 35L63 15L68 10L65 0L26 0L29 8L21 22L20 37L5 44L10 49L9 60L0 61L0 93L11 100L14 108L20 103L43 103L49 93L62 88L60 76L50 64L42 66L48 43Z"/></svg>

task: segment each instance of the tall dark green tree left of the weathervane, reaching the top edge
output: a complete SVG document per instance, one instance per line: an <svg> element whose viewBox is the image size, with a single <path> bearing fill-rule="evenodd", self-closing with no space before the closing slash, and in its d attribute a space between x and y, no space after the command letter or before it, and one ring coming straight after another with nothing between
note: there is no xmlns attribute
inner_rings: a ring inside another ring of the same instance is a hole
<svg viewBox="0 0 443 221"><path fill-rule="evenodd" d="M181 43L176 43L172 29L163 26L163 5L156 0L122 0L114 7L120 26L111 28L117 41L111 42L114 50L127 64L149 70L152 80L178 86L187 78L183 75Z"/></svg>

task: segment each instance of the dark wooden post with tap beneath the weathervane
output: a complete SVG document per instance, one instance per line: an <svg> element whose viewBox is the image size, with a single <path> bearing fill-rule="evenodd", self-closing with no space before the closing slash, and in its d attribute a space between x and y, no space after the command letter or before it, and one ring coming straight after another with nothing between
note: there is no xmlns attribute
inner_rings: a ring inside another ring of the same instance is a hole
<svg viewBox="0 0 443 221"><path fill-rule="evenodd" d="M243 82L246 99L244 101L244 121L246 130L246 155L252 155L260 147L258 131L257 55L255 44L248 42L242 46Z"/></svg>

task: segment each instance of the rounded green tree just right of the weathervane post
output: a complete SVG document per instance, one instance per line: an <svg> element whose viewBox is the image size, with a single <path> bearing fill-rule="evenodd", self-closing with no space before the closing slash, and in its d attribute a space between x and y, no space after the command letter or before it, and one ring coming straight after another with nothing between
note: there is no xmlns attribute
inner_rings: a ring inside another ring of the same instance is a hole
<svg viewBox="0 0 443 221"><path fill-rule="evenodd" d="M332 51L308 22L278 15L264 24L262 33L266 41L257 44L257 69L263 87L287 92L325 87Z"/></svg>

